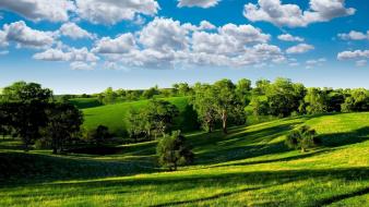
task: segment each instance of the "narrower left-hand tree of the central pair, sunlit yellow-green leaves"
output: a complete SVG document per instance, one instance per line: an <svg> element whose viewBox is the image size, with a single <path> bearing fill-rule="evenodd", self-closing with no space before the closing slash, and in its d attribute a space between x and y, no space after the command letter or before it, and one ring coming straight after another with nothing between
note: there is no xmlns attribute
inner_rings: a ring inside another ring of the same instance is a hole
<svg viewBox="0 0 369 207"><path fill-rule="evenodd" d="M214 94L209 84L195 84L193 87L192 106L198 112L200 122L211 133L214 129L217 113L214 109Z"/></svg>

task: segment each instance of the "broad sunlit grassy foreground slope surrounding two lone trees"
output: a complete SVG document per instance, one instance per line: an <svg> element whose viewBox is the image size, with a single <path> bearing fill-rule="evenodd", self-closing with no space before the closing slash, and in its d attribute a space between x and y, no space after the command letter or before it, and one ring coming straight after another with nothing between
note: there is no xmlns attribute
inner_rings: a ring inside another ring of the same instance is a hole
<svg viewBox="0 0 369 207"><path fill-rule="evenodd" d="M282 144L302 123L319 132L322 147L300 154ZM369 113L285 119L235 127L227 136L188 137L197 162L177 172L152 166L155 142L120 146L110 156L8 149L7 157L50 170L28 173L27 185L20 178L0 185L0 206L368 206Z"/></svg>

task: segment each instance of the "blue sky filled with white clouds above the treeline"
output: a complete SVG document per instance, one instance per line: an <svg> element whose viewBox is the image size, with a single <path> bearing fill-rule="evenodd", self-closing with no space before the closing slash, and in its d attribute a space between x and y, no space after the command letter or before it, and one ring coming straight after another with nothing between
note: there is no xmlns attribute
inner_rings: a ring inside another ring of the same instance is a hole
<svg viewBox="0 0 369 207"><path fill-rule="evenodd" d="M367 0L1 0L0 88L291 78L369 88Z"/></svg>

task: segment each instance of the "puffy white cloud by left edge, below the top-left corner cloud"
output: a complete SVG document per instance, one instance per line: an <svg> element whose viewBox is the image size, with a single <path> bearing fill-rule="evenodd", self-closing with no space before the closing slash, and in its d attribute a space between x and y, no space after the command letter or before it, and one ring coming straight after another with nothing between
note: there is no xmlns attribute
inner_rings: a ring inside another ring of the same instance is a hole
<svg viewBox="0 0 369 207"><path fill-rule="evenodd" d="M8 41L14 41L19 47L48 48L55 42L55 33L33 29L23 21L5 24L3 31Z"/></svg>

